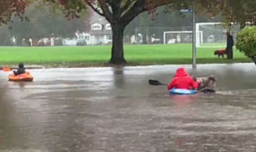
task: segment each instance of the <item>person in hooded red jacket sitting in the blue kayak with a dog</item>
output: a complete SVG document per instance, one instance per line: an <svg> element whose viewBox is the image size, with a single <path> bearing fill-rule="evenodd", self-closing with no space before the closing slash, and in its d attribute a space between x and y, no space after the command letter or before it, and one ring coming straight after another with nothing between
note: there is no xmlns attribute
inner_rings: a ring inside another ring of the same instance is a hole
<svg viewBox="0 0 256 152"><path fill-rule="evenodd" d="M185 71L183 67L180 67L176 70L175 76L171 79L171 82L168 84L168 90L170 89L196 89L199 82L194 81L192 77Z"/></svg>

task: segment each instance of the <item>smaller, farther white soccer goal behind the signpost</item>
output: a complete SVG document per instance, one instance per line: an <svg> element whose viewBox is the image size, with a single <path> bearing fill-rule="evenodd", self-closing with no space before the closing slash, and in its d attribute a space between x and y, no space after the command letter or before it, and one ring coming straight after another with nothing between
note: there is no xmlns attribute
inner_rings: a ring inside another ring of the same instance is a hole
<svg viewBox="0 0 256 152"><path fill-rule="evenodd" d="M166 31L163 33L164 44L175 44L175 43L192 43L192 31ZM202 43L202 31L196 33L197 42L200 45Z"/></svg>

